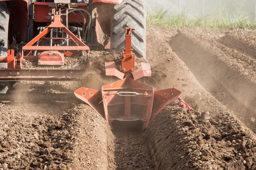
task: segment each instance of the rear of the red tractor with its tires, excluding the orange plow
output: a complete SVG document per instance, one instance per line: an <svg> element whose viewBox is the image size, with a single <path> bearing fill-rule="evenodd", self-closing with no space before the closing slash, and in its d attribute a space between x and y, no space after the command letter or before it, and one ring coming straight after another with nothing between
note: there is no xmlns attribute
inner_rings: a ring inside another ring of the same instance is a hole
<svg viewBox="0 0 256 170"><path fill-rule="evenodd" d="M41 37L42 40L33 42L53 23L54 10L55 14L59 13L61 21L58 22L63 23L70 33L63 31L64 28L53 27ZM136 27L132 42L134 54L145 58L145 25L142 0L0 0L0 94L5 94L17 80L47 79L48 74L42 73L45 71L32 74L23 69L24 59L38 59L38 65L61 65L64 64L64 54L83 54L82 50L75 49L77 42L87 46L86 50L84 48L86 52L89 49L122 52L125 27ZM73 35L79 40L74 40ZM37 47L24 50L32 44ZM15 50L12 52L10 48L13 46ZM52 50L60 52L52 53ZM54 61L53 54L57 55ZM7 61L7 56L13 57ZM58 75L60 79L65 76L62 72L56 70L49 77ZM76 71L73 73L76 77Z"/></svg>

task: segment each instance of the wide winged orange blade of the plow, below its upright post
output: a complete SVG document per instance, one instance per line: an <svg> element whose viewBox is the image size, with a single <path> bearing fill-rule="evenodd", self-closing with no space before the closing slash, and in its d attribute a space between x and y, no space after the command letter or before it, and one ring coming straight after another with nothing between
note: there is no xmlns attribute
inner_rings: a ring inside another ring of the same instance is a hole
<svg viewBox="0 0 256 170"><path fill-rule="evenodd" d="M143 128L149 124L167 104L180 97L175 88L154 91L154 88L131 78L102 86L102 91L79 88L76 97L90 105L95 111L111 122L140 121Z"/></svg>

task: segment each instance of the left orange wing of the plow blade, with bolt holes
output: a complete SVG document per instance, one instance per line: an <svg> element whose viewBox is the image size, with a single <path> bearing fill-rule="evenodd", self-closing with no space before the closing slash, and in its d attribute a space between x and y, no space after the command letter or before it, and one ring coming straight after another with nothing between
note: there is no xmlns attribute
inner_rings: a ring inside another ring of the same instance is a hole
<svg viewBox="0 0 256 170"><path fill-rule="evenodd" d="M100 91L93 90L90 88L79 88L74 91L77 98L86 102L90 107L92 107L99 114L104 116L104 109L102 104L102 94Z"/></svg>

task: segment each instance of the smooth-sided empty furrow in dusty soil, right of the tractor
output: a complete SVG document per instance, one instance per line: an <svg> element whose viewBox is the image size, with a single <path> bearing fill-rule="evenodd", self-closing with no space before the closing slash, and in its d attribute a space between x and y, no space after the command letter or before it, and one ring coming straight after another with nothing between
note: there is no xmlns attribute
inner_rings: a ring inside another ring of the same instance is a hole
<svg viewBox="0 0 256 170"><path fill-rule="evenodd" d="M251 120L256 111L256 60L214 39L198 37L180 32L170 45L200 84L255 132Z"/></svg>

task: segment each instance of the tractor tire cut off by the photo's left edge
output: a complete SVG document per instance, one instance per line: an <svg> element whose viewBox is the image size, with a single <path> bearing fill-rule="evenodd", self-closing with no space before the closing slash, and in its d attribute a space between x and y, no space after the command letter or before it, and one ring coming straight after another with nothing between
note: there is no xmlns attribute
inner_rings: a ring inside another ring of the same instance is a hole
<svg viewBox="0 0 256 170"><path fill-rule="evenodd" d="M7 56L9 8L5 2L0 1L0 56ZM7 68L7 63L0 63L0 68ZM8 82L0 82L0 94L6 94Z"/></svg>

